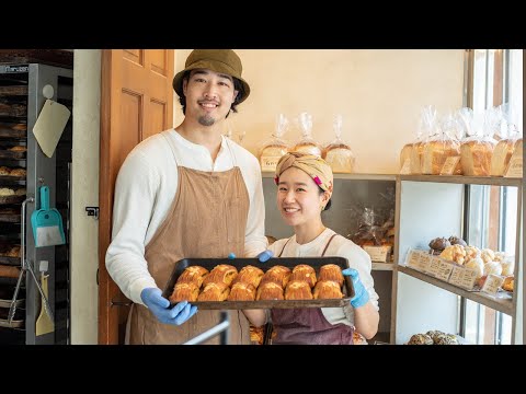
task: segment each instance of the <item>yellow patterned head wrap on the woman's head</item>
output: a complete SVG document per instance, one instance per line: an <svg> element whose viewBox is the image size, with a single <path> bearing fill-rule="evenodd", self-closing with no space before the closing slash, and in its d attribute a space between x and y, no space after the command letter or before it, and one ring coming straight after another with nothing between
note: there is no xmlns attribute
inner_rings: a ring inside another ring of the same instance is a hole
<svg viewBox="0 0 526 394"><path fill-rule="evenodd" d="M286 153L277 162L276 177L274 178L276 185L279 183L283 172L291 166L305 171L318 186L332 194L334 177L331 166L323 159L304 152Z"/></svg>

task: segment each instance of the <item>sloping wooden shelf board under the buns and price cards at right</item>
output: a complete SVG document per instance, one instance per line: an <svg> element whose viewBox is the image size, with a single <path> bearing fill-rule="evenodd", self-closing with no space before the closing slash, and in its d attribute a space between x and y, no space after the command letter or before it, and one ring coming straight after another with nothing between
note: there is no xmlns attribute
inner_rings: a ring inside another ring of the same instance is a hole
<svg viewBox="0 0 526 394"><path fill-rule="evenodd" d="M505 313L505 314L508 314L508 315L513 315L513 300L512 300L512 298L508 298L507 296L506 296L506 298L504 298L504 297L501 298L498 294L496 298L495 298L495 297L492 297L492 296L489 296L489 294L485 294L485 293L482 293L482 292L468 291L468 290L461 289L459 287L453 286L448 282L445 282L443 280L433 278L433 277L431 277L426 274L423 274L421 271L418 271L418 270L415 270L413 268L410 268L410 267L407 267L407 266L399 265L397 267L397 269L398 269L399 273L403 273L403 274L409 275L413 278L416 278L416 279L425 281L430 285L436 286L441 289L450 291L450 292L453 292L457 296L461 296L461 297L464 297L468 300L478 302L478 303L480 303L482 305L485 305L488 308L491 308L495 311L499 311L499 312L502 312L502 313Z"/></svg>

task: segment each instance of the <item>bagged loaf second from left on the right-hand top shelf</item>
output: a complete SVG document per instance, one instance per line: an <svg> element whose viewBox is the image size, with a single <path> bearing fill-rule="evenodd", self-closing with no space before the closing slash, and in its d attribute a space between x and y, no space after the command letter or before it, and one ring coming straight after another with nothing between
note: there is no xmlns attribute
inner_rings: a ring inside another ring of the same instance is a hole
<svg viewBox="0 0 526 394"><path fill-rule="evenodd" d="M434 140L427 141L423 146L423 153L421 158L422 174L439 175L447 158L460 157L460 147L454 140ZM458 161L454 175L461 175L462 169L460 160Z"/></svg>

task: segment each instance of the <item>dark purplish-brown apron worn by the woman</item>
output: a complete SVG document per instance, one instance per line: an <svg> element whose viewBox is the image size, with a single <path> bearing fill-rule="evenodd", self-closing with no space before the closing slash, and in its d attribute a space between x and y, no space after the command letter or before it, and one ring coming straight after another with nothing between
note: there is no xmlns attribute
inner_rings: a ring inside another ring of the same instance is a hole
<svg viewBox="0 0 526 394"><path fill-rule="evenodd" d="M325 255L335 235L338 234L333 234L327 242L321 257ZM288 241L278 257L282 257ZM273 345L353 345L354 327L343 323L329 323L320 308L273 309L271 313L276 333L272 339Z"/></svg>

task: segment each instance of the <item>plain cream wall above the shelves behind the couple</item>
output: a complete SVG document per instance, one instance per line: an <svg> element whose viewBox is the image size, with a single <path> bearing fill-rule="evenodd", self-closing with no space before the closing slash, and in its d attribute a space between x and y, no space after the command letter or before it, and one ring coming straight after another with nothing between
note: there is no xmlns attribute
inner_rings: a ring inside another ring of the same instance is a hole
<svg viewBox="0 0 526 394"><path fill-rule="evenodd" d="M192 49L175 50L175 72ZM236 49L251 95L232 114L235 139L256 154L279 113L313 118L313 138L334 138L332 116L343 115L342 137L357 157L356 172L398 173L398 155L412 140L420 111L439 113L462 105L461 49ZM174 100L174 125L183 118ZM299 139L299 132L285 135Z"/></svg>

